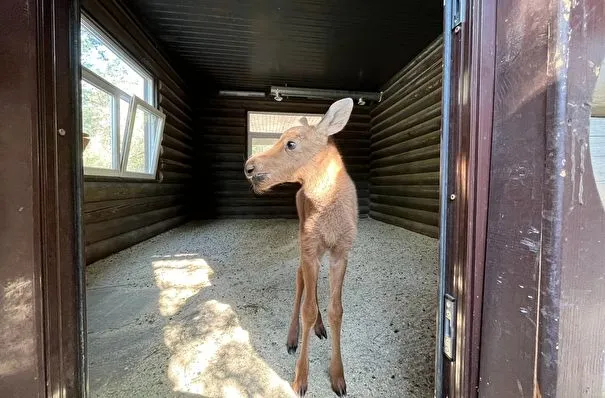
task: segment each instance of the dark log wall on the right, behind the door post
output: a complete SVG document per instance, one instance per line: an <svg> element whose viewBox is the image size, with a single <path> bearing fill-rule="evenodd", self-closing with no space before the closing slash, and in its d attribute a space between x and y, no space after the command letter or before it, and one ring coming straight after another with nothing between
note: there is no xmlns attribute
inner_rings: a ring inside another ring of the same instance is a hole
<svg viewBox="0 0 605 398"><path fill-rule="evenodd" d="M443 40L384 87L371 112L370 217L439 235Z"/></svg>

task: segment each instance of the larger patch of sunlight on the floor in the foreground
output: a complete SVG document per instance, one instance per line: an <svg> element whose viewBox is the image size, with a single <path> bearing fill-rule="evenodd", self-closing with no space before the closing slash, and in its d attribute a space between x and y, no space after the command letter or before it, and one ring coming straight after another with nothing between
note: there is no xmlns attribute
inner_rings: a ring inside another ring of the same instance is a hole
<svg viewBox="0 0 605 398"><path fill-rule="evenodd" d="M295 397L254 351L231 306L216 300L164 329L174 390L207 397Z"/></svg>

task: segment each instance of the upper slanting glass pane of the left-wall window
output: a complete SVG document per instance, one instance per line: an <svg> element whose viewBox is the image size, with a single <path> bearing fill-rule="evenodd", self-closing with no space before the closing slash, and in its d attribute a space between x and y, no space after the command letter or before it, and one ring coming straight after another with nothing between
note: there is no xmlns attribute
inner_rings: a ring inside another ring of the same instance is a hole
<svg viewBox="0 0 605 398"><path fill-rule="evenodd" d="M145 97L146 79L133 69L123 56L100 35L85 24L81 29L81 63L97 75L129 95L137 95L151 103L151 95Z"/></svg>

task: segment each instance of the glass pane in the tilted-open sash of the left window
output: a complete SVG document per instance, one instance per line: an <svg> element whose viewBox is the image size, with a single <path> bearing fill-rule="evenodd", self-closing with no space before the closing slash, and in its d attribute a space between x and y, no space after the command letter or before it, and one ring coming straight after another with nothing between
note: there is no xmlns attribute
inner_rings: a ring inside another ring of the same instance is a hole
<svg viewBox="0 0 605 398"><path fill-rule="evenodd" d="M152 161L159 150L158 123L155 115L140 106L136 108L126 171L146 174L153 172L155 164Z"/></svg>

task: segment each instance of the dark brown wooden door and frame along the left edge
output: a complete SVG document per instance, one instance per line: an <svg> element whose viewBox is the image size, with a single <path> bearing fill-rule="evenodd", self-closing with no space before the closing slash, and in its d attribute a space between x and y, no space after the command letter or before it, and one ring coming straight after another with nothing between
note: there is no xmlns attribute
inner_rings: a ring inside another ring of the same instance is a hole
<svg viewBox="0 0 605 398"><path fill-rule="evenodd" d="M77 4L0 2L0 391L84 385Z"/></svg>

